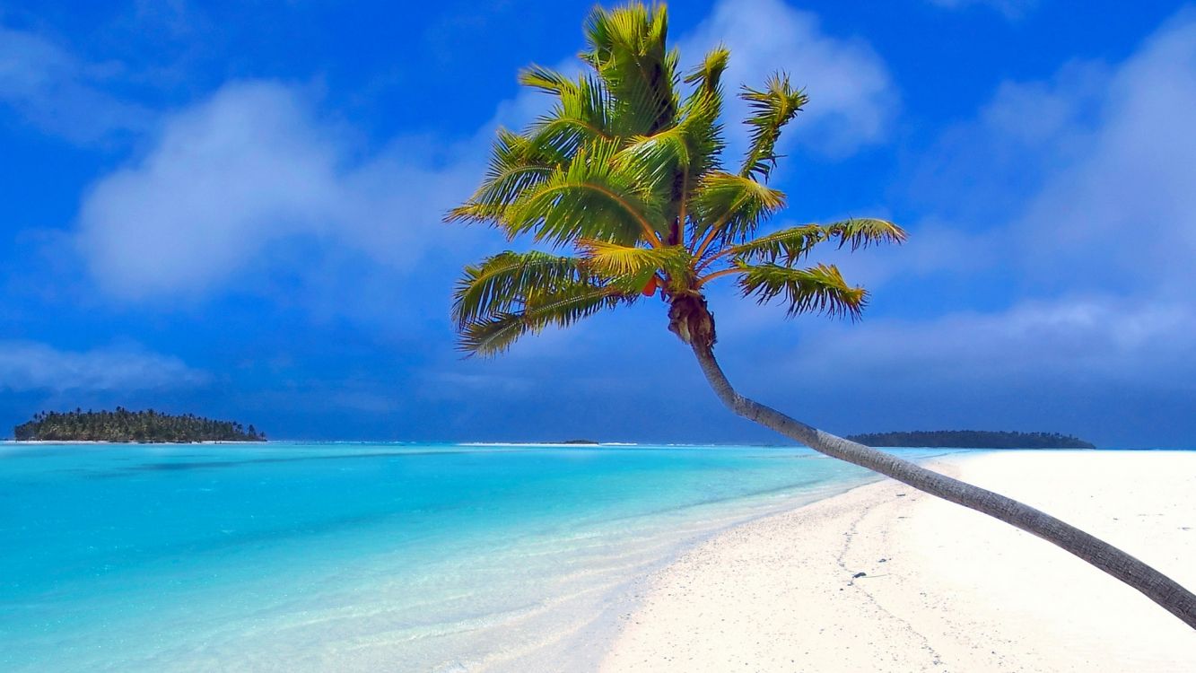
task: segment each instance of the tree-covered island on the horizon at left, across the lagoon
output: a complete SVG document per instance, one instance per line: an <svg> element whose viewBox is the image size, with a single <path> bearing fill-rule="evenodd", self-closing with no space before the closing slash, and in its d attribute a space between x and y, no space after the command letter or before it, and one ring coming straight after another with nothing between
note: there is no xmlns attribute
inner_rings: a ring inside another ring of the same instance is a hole
<svg viewBox="0 0 1196 673"><path fill-rule="evenodd" d="M153 409L129 411L42 411L13 428L17 441L196 442L266 441L266 433L234 421L194 414L173 416Z"/></svg>

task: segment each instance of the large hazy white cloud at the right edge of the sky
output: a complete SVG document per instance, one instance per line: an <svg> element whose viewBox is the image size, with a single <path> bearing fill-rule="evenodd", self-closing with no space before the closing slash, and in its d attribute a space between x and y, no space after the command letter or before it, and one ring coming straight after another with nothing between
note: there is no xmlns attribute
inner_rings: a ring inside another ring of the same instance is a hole
<svg viewBox="0 0 1196 673"><path fill-rule="evenodd" d="M1031 281L1149 299L1196 282L1196 12L1180 12L1116 66L1067 63L1005 82L977 118L944 135L913 191L939 195L910 274L977 276L1000 259ZM968 251L975 251L969 253ZM886 276L902 273L904 250Z"/></svg>

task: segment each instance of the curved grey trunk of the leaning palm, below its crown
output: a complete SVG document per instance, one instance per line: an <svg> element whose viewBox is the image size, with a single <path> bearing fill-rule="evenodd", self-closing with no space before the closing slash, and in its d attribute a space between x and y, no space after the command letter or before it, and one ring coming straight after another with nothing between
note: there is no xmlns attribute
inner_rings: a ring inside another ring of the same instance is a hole
<svg viewBox="0 0 1196 673"><path fill-rule="evenodd" d="M713 342L713 338L710 339ZM892 477L917 490L950 500L1017 526L1056 544L1146 594L1147 598L1196 629L1196 595L1174 580L1124 551L1088 533L1003 495L952 479L889 453L811 428L805 423L748 399L727 381L710 345L690 343L706 380L728 409L810 448Z"/></svg>

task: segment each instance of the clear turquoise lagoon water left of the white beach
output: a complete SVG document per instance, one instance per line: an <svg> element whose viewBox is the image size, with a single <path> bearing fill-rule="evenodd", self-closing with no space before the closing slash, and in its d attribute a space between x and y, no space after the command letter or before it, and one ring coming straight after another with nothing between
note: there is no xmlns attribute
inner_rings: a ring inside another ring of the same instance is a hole
<svg viewBox="0 0 1196 673"><path fill-rule="evenodd" d="M795 447L4 443L0 669L585 669L685 545L871 479Z"/></svg>

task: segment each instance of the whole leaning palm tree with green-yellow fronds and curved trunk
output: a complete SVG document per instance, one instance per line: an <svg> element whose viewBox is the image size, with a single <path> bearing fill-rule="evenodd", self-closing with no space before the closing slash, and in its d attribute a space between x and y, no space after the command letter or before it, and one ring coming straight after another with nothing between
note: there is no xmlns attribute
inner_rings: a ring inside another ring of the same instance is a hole
<svg viewBox="0 0 1196 673"><path fill-rule="evenodd" d="M1196 628L1196 596L1137 558L1054 516L891 454L818 430L736 392L714 357L715 322L706 293L734 280L745 298L780 302L789 316L855 319L867 302L813 249L901 243L892 222L852 219L761 233L785 207L768 184L782 128L806 104L785 74L744 87L746 157L724 164L722 84L728 51L712 50L681 78L666 47L664 7L596 8L585 26L588 66L567 77L539 66L520 81L550 94L551 111L525 133L499 130L489 170L450 221L498 227L555 250L507 251L466 267L454 292L460 347L505 351L519 337L568 326L661 293L669 329L692 349L733 412L826 455L983 512L1079 556Z"/></svg>

